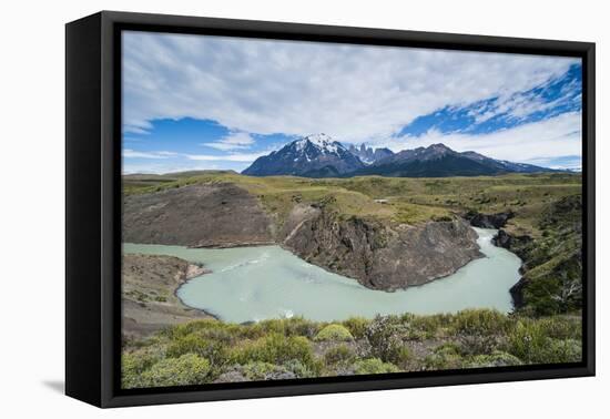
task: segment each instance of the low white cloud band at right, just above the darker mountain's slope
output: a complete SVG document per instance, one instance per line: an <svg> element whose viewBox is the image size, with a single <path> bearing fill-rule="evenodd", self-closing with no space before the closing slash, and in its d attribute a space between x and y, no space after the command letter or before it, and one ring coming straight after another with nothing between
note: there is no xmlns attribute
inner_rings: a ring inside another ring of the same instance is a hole
<svg viewBox="0 0 610 419"><path fill-rule="evenodd" d="M420 136L405 135L376 145L400 151L443 143L459 152L472 150L494 159L540 164L555 157L580 155L581 131L582 115L570 112L489 134L444 134L430 130Z"/></svg>

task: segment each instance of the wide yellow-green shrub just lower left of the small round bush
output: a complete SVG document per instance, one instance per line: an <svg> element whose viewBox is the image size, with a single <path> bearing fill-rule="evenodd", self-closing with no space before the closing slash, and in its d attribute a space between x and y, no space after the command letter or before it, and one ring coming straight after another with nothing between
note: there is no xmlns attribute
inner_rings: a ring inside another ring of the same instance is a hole
<svg viewBox="0 0 610 419"><path fill-rule="evenodd" d="M242 365L252 361L281 365L289 360L298 360L308 368L314 368L316 365L314 352L306 338L302 336L286 337L276 333L242 344L233 350L231 359Z"/></svg>

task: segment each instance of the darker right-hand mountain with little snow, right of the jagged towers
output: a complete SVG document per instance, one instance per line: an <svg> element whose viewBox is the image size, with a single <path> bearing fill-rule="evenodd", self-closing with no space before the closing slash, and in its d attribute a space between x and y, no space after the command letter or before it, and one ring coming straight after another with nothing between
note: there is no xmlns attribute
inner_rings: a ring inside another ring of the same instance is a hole
<svg viewBox="0 0 610 419"><path fill-rule="evenodd" d="M536 172L553 172L553 170L495 160L471 151L460 153L445 144L431 144L427 147L404 150L356 171L354 175L445 177Z"/></svg>

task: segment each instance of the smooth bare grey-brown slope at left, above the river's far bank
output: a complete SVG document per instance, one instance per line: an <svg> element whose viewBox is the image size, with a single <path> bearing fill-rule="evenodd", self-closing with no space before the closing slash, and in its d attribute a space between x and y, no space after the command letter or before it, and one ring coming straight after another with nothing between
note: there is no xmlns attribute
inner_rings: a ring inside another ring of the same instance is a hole
<svg viewBox="0 0 610 419"><path fill-rule="evenodd" d="M230 183L126 196L123 226L126 243L231 247L274 241L256 197Z"/></svg>

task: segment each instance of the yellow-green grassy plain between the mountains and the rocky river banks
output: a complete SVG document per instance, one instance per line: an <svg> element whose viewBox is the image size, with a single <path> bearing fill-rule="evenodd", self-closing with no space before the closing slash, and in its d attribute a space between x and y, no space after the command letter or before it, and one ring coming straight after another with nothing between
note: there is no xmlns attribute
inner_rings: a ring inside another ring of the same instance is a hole
<svg viewBox="0 0 610 419"><path fill-rule="evenodd" d="M234 172L184 172L170 175L130 175L125 194L152 193L196 183L228 182L256 195L263 206L283 219L295 203L325 205L345 216L416 224L468 211L512 211L507 231L539 237L546 205L581 193L580 174L511 174L478 177L305 178L253 177Z"/></svg>

